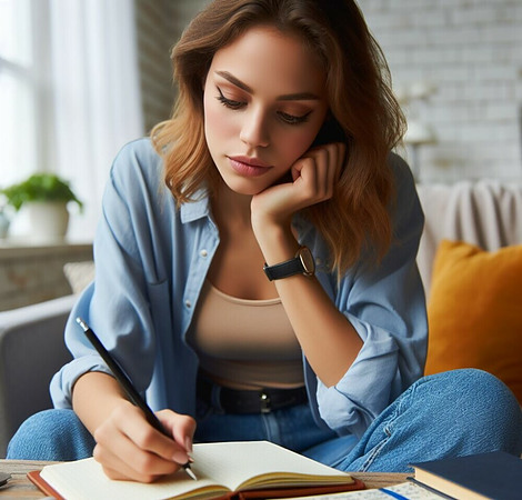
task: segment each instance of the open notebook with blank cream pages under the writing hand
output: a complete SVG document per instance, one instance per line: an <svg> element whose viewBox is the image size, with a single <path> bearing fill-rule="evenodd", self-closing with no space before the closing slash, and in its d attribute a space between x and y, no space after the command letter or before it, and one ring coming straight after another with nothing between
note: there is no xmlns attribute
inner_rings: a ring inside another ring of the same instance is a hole
<svg viewBox="0 0 522 500"><path fill-rule="evenodd" d="M364 488L345 472L268 441L194 444L192 458L197 481L183 470L152 484L114 481L92 458L47 466L28 476L47 494L79 500L283 498Z"/></svg>

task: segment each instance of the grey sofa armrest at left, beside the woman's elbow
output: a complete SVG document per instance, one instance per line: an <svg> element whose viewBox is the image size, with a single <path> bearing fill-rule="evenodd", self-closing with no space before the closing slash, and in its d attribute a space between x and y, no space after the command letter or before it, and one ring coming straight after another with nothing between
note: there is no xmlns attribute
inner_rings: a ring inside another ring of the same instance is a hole
<svg viewBox="0 0 522 500"><path fill-rule="evenodd" d="M77 296L0 312L0 458L18 427L52 408L49 382L71 359L63 329Z"/></svg>

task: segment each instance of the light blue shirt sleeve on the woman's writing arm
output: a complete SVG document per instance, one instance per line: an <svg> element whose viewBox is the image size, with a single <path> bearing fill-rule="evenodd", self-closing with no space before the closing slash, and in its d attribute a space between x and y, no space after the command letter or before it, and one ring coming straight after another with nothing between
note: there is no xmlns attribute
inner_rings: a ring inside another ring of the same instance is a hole
<svg viewBox="0 0 522 500"><path fill-rule="evenodd" d="M94 239L96 280L80 296L66 326L66 344L73 360L51 380L56 408L71 408L73 386L83 373L110 373L77 324L77 317L91 326L108 351L130 371L140 391L150 383L155 340L148 289L158 280L151 263L151 203L158 198L159 184L153 180L158 160L151 153L143 157L149 150L140 148L140 142L128 144L111 169ZM149 164L150 172L140 163Z"/></svg>

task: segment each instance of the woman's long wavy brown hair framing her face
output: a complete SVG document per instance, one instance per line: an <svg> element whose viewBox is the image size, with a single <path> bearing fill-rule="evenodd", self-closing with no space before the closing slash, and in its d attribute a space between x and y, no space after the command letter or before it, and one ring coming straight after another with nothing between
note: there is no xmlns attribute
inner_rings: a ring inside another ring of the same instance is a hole
<svg viewBox="0 0 522 500"><path fill-rule="evenodd" d="M393 177L388 157L400 142L405 121L382 51L352 0L214 0L201 11L172 52L179 87L172 118L152 130L167 186L179 204L193 200L202 187L215 192L221 180L204 139L203 81L214 53L258 24L298 33L319 53L330 104L321 140L341 138L348 144L333 197L309 207L303 216L329 244L338 272L363 250L382 257L392 239Z"/></svg>

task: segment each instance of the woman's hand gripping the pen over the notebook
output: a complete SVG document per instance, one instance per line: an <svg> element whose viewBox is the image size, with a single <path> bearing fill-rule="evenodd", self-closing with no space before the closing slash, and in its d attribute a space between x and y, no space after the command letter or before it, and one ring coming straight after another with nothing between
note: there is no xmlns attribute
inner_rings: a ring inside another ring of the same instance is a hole
<svg viewBox="0 0 522 500"><path fill-rule="evenodd" d="M152 482L190 460L195 421L162 410L155 413L172 439L155 430L143 412L127 400L114 406L94 431L94 459L111 479Z"/></svg>

